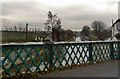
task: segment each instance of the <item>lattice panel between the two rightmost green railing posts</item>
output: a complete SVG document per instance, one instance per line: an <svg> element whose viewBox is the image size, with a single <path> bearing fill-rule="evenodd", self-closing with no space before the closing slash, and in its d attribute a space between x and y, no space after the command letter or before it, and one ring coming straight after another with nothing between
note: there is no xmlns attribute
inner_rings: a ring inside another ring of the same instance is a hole
<svg viewBox="0 0 120 79"><path fill-rule="evenodd" d="M110 43L94 43L92 48L94 61L110 60Z"/></svg>

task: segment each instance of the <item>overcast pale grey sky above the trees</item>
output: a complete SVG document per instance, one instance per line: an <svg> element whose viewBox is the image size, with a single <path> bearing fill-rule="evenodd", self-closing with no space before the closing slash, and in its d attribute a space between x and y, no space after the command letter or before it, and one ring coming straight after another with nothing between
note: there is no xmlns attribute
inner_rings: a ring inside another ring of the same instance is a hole
<svg viewBox="0 0 120 79"><path fill-rule="evenodd" d="M0 17L9 24L26 23L44 28L48 11L57 13L65 29L80 30L95 20L105 22L118 17L119 0L2 0Z"/></svg>

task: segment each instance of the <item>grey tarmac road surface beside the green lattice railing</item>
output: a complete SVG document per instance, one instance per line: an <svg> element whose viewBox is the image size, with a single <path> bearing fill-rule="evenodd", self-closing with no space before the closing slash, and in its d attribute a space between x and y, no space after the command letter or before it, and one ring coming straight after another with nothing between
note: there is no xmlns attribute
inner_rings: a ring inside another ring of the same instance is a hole
<svg viewBox="0 0 120 79"><path fill-rule="evenodd" d="M56 71L40 77L118 77L118 60Z"/></svg>

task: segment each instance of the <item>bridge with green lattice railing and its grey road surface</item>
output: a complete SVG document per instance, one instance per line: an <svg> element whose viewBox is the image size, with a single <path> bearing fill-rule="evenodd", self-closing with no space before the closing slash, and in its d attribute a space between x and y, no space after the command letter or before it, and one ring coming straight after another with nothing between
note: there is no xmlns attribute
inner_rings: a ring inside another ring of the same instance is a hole
<svg viewBox="0 0 120 79"><path fill-rule="evenodd" d="M3 78L119 76L119 41L2 44L0 50Z"/></svg>

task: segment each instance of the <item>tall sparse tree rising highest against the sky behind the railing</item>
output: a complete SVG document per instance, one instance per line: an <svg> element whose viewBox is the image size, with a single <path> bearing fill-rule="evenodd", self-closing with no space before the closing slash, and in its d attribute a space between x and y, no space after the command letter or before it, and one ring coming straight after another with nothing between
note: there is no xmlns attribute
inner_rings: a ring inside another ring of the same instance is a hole
<svg viewBox="0 0 120 79"><path fill-rule="evenodd" d="M52 38L52 41L59 41L60 40L60 29L62 27L61 25L61 19L58 18L57 14L52 14L51 11L48 12L47 20L45 21L45 29L50 33L50 36Z"/></svg>

